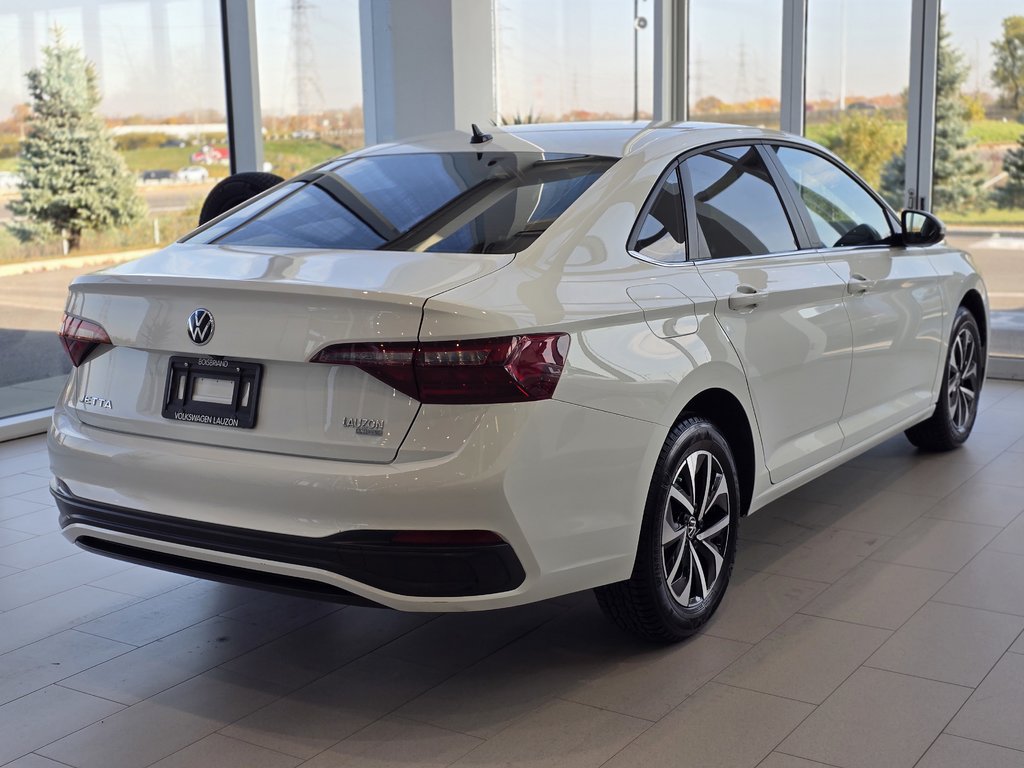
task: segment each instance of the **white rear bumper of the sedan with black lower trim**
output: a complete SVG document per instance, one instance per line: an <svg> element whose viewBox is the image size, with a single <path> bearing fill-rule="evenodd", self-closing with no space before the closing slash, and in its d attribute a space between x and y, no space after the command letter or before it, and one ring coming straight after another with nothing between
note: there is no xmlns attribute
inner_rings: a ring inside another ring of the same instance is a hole
<svg viewBox="0 0 1024 768"><path fill-rule="evenodd" d="M499 608L629 577L664 428L557 400L461 407L438 434L444 416L418 419L381 465L114 432L58 406L51 486L65 537L83 547L403 610ZM457 451L432 447L460 430ZM493 531L505 544L357 541L399 530Z"/></svg>

